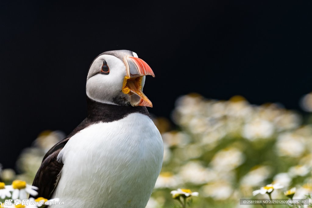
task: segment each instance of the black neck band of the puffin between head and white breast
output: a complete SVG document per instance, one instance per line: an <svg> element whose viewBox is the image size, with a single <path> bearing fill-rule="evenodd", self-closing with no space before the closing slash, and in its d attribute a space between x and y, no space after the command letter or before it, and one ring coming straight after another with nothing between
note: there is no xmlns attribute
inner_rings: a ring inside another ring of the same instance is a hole
<svg viewBox="0 0 312 208"><path fill-rule="evenodd" d="M140 113L150 117L145 106L121 106L100 103L87 96L88 117L92 122L112 122L123 119L129 114Z"/></svg>

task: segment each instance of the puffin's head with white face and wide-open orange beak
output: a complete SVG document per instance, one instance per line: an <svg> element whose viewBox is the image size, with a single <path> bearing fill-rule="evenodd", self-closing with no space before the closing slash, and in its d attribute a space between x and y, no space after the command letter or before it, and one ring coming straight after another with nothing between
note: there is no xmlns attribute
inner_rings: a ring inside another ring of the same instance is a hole
<svg viewBox="0 0 312 208"><path fill-rule="evenodd" d="M136 53L107 51L90 65L86 93L100 103L153 107L142 92L145 75L155 77L149 65Z"/></svg>

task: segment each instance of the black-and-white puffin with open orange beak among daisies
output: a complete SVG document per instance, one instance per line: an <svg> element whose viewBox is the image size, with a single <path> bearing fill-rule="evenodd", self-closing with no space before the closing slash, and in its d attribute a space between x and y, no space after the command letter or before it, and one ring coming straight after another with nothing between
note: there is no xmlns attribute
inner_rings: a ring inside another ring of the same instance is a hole
<svg viewBox="0 0 312 208"><path fill-rule="evenodd" d="M33 181L38 197L66 208L144 208L163 163L163 140L146 107L149 65L128 50L91 63L87 117L43 157ZM61 204L61 203L60 203Z"/></svg>

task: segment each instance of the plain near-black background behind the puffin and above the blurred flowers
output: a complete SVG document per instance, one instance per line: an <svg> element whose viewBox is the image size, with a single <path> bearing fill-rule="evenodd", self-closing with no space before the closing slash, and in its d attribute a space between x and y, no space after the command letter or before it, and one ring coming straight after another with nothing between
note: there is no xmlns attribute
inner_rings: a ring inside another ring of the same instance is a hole
<svg viewBox="0 0 312 208"><path fill-rule="evenodd" d="M193 1L192 1L193 2ZM85 118L85 80L101 52L127 49L153 69L149 111L170 118L179 95L240 94L299 109L311 91L311 3L0 3L1 160L14 167L42 130Z"/></svg>

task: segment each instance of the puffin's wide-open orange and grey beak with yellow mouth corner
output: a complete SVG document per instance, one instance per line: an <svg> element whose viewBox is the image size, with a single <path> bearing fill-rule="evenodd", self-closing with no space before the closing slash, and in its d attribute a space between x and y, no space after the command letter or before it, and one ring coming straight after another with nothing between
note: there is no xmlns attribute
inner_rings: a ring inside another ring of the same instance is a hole
<svg viewBox="0 0 312 208"><path fill-rule="evenodd" d="M130 95L130 104L132 106L153 107L152 102L142 92L142 79L145 75L155 77L151 67L142 59L125 56L124 63L127 68L127 75L124 77L122 92Z"/></svg>

